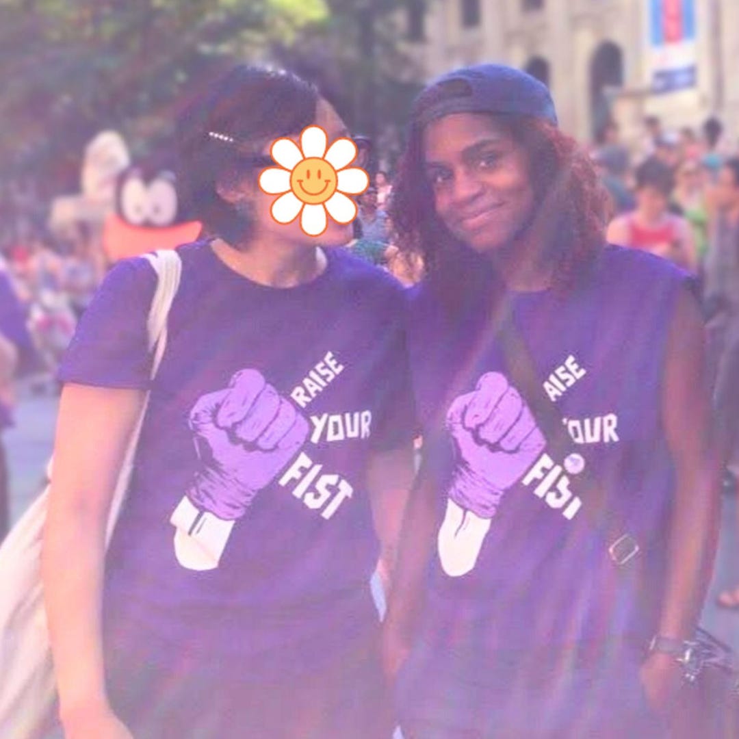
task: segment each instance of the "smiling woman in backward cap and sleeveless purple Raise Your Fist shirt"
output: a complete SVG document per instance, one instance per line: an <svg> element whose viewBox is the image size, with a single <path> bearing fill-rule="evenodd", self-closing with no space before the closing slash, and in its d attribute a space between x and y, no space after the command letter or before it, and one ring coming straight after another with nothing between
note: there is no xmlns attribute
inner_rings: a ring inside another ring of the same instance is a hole
<svg viewBox="0 0 739 739"><path fill-rule="evenodd" d="M590 162L509 67L420 94L391 214L426 264L384 630L403 735L660 736L718 522L689 279L607 245Z"/></svg>

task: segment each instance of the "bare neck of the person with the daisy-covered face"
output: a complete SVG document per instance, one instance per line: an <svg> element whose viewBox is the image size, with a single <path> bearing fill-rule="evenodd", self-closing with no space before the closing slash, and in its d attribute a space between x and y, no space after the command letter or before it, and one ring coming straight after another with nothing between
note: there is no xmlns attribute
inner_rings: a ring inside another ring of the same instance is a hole
<svg viewBox="0 0 739 739"><path fill-rule="evenodd" d="M215 239L213 251L234 272L266 287L296 287L310 282L326 268L326 255L318 247L253 239L234 248Z"/></svg>

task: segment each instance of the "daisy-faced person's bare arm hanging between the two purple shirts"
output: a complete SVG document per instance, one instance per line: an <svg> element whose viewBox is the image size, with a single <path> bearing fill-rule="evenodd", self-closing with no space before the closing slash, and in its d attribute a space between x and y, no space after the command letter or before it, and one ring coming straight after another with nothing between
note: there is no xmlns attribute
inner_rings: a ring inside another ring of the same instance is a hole
<svg viewBox="0 0 739 739"><path fill-rule="evenodd" d="M389 452L375 452L367 465L367 490L381 547L378 571L386 595L392 585L403 513L414 476L412 443Z"/></svg>

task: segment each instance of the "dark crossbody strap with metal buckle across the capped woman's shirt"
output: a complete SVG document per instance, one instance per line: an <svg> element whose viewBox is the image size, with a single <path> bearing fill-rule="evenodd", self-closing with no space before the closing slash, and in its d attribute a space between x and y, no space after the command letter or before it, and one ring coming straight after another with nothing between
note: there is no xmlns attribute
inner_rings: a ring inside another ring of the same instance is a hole
<svg viewBox="0 0 739 739"><path fill-rule="evenodd" d="M514 325L510 310L503 310L500 316L497 338L512 384L528 403L554 457L565 460L573 452L573 441L562 417L544 392L534 361ZM638 555L638 542L628 533L613 505L609 505L605 486L587 469L580 471L576 480L577 491L583 501L579 514L587 517L594 528L605 532L610 559L615 565L624 567Z"/></svg>

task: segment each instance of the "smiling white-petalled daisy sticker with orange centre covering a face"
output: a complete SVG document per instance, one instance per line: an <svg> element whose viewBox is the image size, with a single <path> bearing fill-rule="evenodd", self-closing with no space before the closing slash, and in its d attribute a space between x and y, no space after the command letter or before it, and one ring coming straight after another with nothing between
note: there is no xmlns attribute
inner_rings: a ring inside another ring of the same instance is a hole
<svg viewBox="0 0 739 739"><path fill-rule="evenodd" d="M300 216L307 236L321 236L328 217L350 223L357 215L358 195L369 187L369 176L360 167L350 167L358 154L350 138L336 139L327 150L328 137L321 126L307 126L300 134L300 146L292 139L279 138L270 156L279 167L259 174L259 187L268 195L279 195L270 212L278 223L292 223Z"/></svg>

